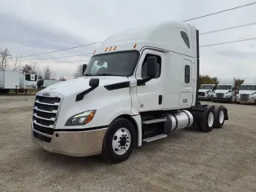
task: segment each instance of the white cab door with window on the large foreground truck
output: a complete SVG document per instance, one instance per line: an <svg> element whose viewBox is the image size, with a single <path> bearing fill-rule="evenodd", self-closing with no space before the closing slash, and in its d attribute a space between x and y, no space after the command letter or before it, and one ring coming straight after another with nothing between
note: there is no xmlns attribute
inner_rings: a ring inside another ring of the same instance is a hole
<svg viewBox="0 0 256 192"><path fill-rule="evenodd" d="M150 81L143 83L142 79L147 77L147 58L156 56L158 60L157 75ZM163 53L155 50L144 50L142 52L135 77L137 78L138 111L162 110L163 102L163 79L164 79Z"/></svg>

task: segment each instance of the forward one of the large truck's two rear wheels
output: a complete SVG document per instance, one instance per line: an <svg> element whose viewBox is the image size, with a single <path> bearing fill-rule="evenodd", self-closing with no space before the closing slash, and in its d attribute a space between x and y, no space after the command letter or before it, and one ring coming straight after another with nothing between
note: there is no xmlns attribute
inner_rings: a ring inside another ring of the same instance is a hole
<svg viewBox="0 0 256 192"><path fill-rule="evenodd" d="M206 110L202 114L202 121L199 124L202 132L210 132L214 128L214 107L206 106Z"/></svg>

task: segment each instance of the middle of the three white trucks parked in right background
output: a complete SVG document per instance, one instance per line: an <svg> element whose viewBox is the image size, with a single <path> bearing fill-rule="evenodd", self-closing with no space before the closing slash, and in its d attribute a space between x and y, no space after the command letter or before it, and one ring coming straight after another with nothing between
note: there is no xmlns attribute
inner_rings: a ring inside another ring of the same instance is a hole
<svg viewBox="0 0 256 192"><path fill-rule="evenodd" d="M213 102L236 102L235 78L219 78Z"/></svg>

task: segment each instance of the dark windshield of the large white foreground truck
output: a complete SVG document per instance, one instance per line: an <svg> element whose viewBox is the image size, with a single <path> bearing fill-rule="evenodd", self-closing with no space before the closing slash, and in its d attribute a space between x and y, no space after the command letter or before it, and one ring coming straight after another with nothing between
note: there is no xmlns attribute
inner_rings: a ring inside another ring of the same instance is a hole
<svg viewBox="0 0 256 192"><path fill-rule="evenodd" d="M90 58L85 76L125 76L134 74L138 62L137 50L100 54Z"/></svg>

